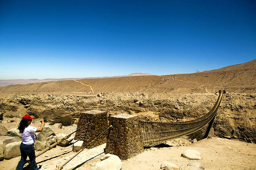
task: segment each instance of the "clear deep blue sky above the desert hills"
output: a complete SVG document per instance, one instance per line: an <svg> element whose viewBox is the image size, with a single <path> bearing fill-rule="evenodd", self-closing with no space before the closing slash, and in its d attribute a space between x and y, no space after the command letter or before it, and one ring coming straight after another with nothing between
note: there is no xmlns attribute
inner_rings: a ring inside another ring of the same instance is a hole
<svg viewBox="0 0 256 170"><path fill-rule="evenodd" d="M255 58L255 0L0 0L0 80L193 73Z"/></svg>

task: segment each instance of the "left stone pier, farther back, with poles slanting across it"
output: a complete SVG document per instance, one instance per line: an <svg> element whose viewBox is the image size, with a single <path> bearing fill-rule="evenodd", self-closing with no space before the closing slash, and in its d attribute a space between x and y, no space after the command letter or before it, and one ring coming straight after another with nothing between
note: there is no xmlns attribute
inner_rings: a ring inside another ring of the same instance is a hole
<svg viewBox="0 0 256 170"><path fill-rule="evenodd" d="M82 112L77 123L77 129L79 129L88 122L90 122L89 125L76 132L74 139L84 141L84 146L86 146L88 143L95 139L93 143L86 147L90 149L102 145L106 142L106 136L108 134L108 131L106 131L97 139L96 136L98 136L108 128L107 112L97 110Z"/></svg>

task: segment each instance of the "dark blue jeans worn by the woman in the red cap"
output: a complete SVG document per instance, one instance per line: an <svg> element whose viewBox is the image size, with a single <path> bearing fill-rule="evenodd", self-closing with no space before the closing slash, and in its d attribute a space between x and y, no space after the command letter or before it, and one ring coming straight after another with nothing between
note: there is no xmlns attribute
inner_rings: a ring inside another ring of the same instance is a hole
<svg viewBox="0 0 256 170"><path fill-rule="evenodd" d="M38 170L37 163L35 162L34 145L26 145L24 143L21 143L19 146L19 149L20 149L20 153L21 153L21 158L16 167L16 170L23 170L23 166L25 165L27 157L29 157L31 168L33 170Z"/></svg>

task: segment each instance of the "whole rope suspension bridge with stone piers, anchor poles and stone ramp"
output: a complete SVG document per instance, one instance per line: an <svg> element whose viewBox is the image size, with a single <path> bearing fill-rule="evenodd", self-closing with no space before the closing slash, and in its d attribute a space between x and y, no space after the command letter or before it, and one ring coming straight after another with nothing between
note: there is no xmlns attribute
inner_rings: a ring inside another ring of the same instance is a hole
<svg viewBox="0 0 256 170"><path fill-rule="evenodd" d="M127 114L111 116L108 120L108 118L106 118L107 113L103 111L88 111L87 113L82 113L79 124L77 125L77 130L75 131L77 136L81 136L82 134L82 137L80 139L84 141L84 145L81 150L77 153L74 153L72 156L69 156L68 158L58 160L56 162L56 164L58 165L54 165L54 163L51 163L43 165L44 167L42 168L45 170L72 170L77 168L77 166L80 166L83 163L87 162L88 160L104 153L115 154L121 159L127 159L143 152L144 146L157 145L171 139L189 135L207 125L207 130L204 134L204 138L206 138L209 134L210 128L213 124L214 118L216 116L217 110L219 108L219 105L221 104L224 94L226 94L225 90L219 90L217 101L214 104L213 108L207 114L198 119L185 122L141 121L137 120L137 116ZM87 118L87 120L84 120L85 117ZM95 126L99 125L97 119L100 121L106 121L104 125L105 127L101 128L102 130L96 130L95 128ZM89 132L88 139L91 139L90 141L86 139L87 132ZM45 150L39 152L36 156L43 154L49 149L52 149L59 142L65 140L70 135L57 141ZM94 138L91 138L91 136L93 136ZM106 143L102 144L102 141L100 141L99 139L104 139ZM97 141L100 141L100 143L97 143ZM93 147L90 147L92 149L84 150L92 143L94 145ZM93 152L94 154L90 153L91 155L93 155L93 157L88 157L88 154L86 152Z"/></svg>

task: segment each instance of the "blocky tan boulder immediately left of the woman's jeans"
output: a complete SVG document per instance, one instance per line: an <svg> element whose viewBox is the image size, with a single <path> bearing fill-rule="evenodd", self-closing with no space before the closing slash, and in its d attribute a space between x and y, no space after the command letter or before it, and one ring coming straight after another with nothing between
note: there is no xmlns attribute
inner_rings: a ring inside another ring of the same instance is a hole
<svg viewBox="0 0 256 170"><path fill-rule="evenodd" d="M17 156L20 156L20 146L21 142L12 142L8 143L7 145L4 146L4 159L11 159Z"/></svg>

